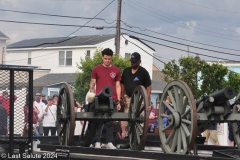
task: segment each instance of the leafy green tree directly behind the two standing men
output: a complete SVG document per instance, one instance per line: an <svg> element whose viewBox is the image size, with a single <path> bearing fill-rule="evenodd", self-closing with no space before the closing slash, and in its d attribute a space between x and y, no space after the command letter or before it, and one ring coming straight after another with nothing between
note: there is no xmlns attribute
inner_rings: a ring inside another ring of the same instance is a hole
<svg viewBox="0 0 240 160"><path fill-rule="evenodd" d="M73 94L79 102L85 101L85 96L89 90L92 69L95 66L102 64L101 51L102 49L97 49L93 58L86 56L85 58L81 58L80 62L77 63L77 66L82 73L79 73L75 79ZM117 56L116 54L113 55L112 63L121 70L121 73L126 67L130 66L129 60Z"/></svg>

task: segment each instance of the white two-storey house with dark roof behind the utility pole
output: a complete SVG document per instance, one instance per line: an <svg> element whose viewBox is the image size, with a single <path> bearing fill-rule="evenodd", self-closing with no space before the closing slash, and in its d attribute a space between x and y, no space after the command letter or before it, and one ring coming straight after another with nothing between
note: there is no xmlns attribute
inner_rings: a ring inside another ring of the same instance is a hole
<svg viewBox="0 0 240 160"><path fill-rule="evenodd" d="M7 46L5 64L38 66L41 69L51 69L50 73L77 73L81 72L76 65L80 58L93 56L98 48L111 48L114 51L114 42L114 34L22 40ZM122 35L120 56L129 59L133 52L141 54L142 66L152 77L152 55L155 50L138 39Z"/></svg>

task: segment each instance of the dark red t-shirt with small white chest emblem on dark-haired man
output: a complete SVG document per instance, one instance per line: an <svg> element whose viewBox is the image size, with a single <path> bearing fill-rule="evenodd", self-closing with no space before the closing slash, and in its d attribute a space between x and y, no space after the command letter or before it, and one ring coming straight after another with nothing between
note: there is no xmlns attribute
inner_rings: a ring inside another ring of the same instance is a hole
<svg viewBox="0 0 240 160"><path fill-rule="evenodd" d="M104 86L110 86L113 89L112 98L117 99L116 82L121 81L120 69L112 65L104 67L102 64L96 66L92 70L92 79L96 79L96 94L98 94Z"/></svg>

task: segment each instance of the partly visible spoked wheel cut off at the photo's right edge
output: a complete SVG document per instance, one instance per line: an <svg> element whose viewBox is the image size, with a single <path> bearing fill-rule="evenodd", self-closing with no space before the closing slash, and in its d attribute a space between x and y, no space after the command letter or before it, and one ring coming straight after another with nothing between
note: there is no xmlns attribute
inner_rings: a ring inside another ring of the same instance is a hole
<svg viewBox="0 0 240 160"><path fill-rule="evenodd" d="M235 102L240 101L239 98L240 98L240 93L238 93L238 95L235 99ZM236 103L233 106L232 113L239 113L239 111L240 111L240 104ZM238 147L238 149L240 149L240 123L239 122L238 123L232 123L232 131L233 131L233 137L234 137L234 140L237 144L237 147Z"/></svg>

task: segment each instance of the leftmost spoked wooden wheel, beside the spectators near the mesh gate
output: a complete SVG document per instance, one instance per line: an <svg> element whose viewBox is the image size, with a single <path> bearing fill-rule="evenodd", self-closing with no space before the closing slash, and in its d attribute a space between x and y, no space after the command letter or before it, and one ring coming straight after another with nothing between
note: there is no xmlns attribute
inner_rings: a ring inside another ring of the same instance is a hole
<svg viewBox="0 0 240 160"><path fill-rule="evenodd" d="M71 87L64 83L57 104L57 133L60 145L71 146L74 138L75 111Z"/></svg>

